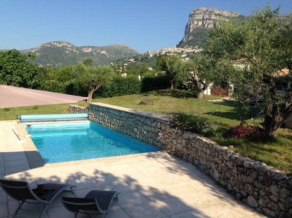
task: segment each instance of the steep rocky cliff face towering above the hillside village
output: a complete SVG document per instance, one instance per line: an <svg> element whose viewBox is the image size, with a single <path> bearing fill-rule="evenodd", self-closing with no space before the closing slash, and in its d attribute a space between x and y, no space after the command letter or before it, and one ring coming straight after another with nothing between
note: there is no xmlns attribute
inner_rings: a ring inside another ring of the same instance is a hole
<svg viewBox="0 0 292 218"><path fill-rule="evenodd" d="M198 38L198 43L190 43L191 45L201 46L201 42L206 41L205 37L209 30L212 29L219 19L229 19L231 17L239 17L237 12L219 11L216 8L197 8L190 15L188 24L185 29L185 36L178 44L178 47L184 47L191 40Z"/></svg>

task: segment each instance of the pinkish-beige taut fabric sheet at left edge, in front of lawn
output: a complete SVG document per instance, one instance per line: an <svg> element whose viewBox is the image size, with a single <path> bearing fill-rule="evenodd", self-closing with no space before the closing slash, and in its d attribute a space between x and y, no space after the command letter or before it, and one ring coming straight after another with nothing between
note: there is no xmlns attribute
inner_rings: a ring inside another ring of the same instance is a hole
<svg viewBox="0 0 292 218"><path fill-rule="evenodd" d="M87 97L0 84L0 108L75 103L85 99Z"/></svg>

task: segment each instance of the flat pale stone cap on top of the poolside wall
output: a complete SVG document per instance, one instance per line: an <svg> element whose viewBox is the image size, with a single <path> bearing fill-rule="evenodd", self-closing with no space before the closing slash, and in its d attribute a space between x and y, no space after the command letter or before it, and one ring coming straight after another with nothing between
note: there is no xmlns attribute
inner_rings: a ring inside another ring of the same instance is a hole
<svg viewBox="0 0 292 218"><path fill-rule="evenodd" d="M122 110L125 112L136 113L136 114L139 114L141 116L151 117L154 119L160 119L160 120L164 120L164 121L171 120L171 118L167 115L158 114L158 113L150 113L150 112L146 112L146 111L142 111L142 110L135 110L135 109L129 109L129 108L124 108L124 107L118 107L118 106L108 105L108 104L104 104L104 103L89 103L89 105L97 105L97 106L102 106L104 108Z"/></svg>

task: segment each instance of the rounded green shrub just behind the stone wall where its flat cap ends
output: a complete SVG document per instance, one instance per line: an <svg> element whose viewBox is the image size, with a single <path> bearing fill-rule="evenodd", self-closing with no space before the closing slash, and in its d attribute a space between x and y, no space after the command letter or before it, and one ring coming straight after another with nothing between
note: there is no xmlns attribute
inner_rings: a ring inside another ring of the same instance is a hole
<svg viewBox="0 0 292 218"><path fill-rule="evenodd" d="M171 127L197 133L203 136L212 136L215 133L215 125L200 112L192 109L179 111L172 114Z"/></svg>

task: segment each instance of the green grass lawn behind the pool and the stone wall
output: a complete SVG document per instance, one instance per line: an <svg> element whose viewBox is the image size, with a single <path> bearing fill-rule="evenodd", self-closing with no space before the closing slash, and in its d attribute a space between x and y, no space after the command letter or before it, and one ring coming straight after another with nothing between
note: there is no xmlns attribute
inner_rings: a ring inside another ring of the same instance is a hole
<svg viewBox="0 0 292 218"><path fill-rule="evenodd" d="M138 105L142 98L148 97L153 101L153 105ZM238 125L241 118L233 111L232 105L216 104L208 100L220 99L214 96L204 95L198 100L193 93L181 90L162 90L151 91L135 95L126 95L112 98L97 98L92 102L101 102L125 108L145 110L161 114L169 114L183 109L194 109L205 114L206 117L214 122L218 127L217 136L211 139L220 145L233 145L234 150L238 151L251 159L265 162L277 169L292 172L292 130L281 128L279 136L274 142L250 142L246 140L226 140L220 136L223 128ZM230 102L226 102L230 103ZM77 105L87 107L88 103L80 102ZM69 104L48 105L38 107L22 107L11 109L0 109L0 120L13 120L20 114L50 114L68 113ZM253 125L260 125L261 119L245 120Z"/></svg>

